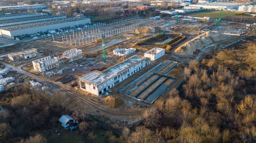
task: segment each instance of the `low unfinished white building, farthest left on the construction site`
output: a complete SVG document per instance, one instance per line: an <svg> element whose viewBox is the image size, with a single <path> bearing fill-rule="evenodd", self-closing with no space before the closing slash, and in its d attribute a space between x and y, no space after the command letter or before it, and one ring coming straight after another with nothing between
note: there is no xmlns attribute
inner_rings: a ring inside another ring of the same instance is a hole
<svg viewBox="0 0 256 143"><path fill-rule="evenodd" d="M8 58L11 61L18 61L18 60L28 60L32 57L36 57L37 50L34 48L31 48L29 50L24 50L21 52L13 52L8 54Z"/></svg>

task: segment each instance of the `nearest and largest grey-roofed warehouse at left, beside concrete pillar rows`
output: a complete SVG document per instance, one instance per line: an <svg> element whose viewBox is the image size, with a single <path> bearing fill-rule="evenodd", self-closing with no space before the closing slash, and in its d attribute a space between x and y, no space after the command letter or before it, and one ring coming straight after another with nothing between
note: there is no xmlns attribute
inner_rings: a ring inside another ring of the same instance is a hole
<svg viewBox="0 0 256 143"><path fill-rule="evenodd" d="M14 39L14 36L24 38L28 37L29 34L43 34L44 32L48 32L48 30L57 31L58 29L64 30L75 27L83 27L86 24L91 24L90 18L69 17L63 19L0 27L0 35L12 39Z"/></svg>

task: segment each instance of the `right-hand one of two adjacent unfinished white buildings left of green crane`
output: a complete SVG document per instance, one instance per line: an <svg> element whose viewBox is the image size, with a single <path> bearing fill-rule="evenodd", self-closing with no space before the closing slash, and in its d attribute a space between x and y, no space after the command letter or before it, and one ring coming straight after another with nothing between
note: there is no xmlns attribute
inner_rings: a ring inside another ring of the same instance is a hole
<svg viewBox="0 0 256 143"><path fill-rule="evenodd" d="M68 59L69 62L83 58L83 51L77 49L67 50L63 53L64 58Z"/></svg>

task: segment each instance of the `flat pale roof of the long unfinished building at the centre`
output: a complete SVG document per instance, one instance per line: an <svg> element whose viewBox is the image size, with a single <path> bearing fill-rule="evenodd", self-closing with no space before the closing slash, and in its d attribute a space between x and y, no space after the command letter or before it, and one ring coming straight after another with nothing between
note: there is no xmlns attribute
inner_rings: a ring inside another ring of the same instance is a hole
<svg viewBox="0 0 256 143"><path fill-rule="evenodd" d="M84 76L82 79L99 85L102 82L104 82L105 80L108 80L108 79L114 77L120 71L128 68L129 66L131 66L131 65L133 65L133 64L135 64L135 63L137 63L137 62L139 62L143 59L144 58L134 56L134 57L132 57L130 59L127 59L126 61L110 68L110 69L107 69L107 70L103 71L102 73L93 72L89 75Z"/></svg>

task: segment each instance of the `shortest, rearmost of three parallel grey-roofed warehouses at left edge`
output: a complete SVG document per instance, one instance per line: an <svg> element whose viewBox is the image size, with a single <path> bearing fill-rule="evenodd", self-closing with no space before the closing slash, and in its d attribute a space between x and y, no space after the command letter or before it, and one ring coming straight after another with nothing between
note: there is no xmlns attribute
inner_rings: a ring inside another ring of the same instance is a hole
<svg viewBox="0 0 256 143"><path fill-rule="evenodd" d="M9 20L9 19L27 18L27 17L36 17L36 16L41 16L41 14L40 13L5 14L5 15L0 15L0 20Z"/></svg>

